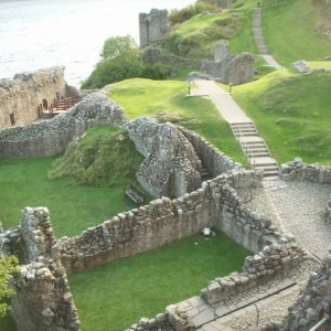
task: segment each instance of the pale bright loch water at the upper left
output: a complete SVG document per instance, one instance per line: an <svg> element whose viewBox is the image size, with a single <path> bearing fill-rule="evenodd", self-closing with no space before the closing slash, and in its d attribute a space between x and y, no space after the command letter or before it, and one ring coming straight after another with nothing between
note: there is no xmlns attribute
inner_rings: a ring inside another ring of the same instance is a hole
<svg viewBox="0 0 331 331"><path fill-rule="evenodd" d="M139 44L139 12L180 9L192 0L0 0L0 78L55 65L79 87L109 36Z"/></svg>

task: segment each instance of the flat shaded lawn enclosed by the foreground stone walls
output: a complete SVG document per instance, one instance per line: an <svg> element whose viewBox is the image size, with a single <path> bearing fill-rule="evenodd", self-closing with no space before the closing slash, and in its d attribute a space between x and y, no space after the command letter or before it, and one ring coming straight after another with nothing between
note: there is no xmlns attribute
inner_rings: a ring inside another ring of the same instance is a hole
<svg viewBox="0 0 331 331"><path fill-rule="evenodd" d="M241 270L248 254L222 233L207 241L196 235L72 275L82 330L122 331L141 317L154 317L199 296L210 280Z"/></svg>

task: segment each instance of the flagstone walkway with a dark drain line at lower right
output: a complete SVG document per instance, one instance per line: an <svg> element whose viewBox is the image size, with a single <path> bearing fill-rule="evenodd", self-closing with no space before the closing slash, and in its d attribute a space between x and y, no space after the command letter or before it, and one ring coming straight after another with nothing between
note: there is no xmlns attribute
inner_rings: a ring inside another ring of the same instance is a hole
<svg viewBox="0 0 331 331"><path fill-rule="evenodd" d="M267 325L270 321L280 323L316 268L316 263L307 260L297 269L236 295L226 302L210 306L196 296L177 303L177 307L189 317L195 330L200 331L248 330L252 327Z"/></svg>

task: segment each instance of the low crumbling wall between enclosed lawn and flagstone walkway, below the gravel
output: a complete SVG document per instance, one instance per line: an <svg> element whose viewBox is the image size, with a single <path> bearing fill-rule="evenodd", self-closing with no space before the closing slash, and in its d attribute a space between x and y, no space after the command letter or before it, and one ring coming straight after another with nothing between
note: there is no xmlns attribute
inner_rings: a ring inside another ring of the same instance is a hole
<svg viewBox="0 0 331 331"><path fill-rule="evenodd" d="M216 278L202 290L201 296L209 305L225 302L299 265L305 258L306 253L295 242L265 246L260 253L246 257L241 274L233 273L227 277Z"/></svg>

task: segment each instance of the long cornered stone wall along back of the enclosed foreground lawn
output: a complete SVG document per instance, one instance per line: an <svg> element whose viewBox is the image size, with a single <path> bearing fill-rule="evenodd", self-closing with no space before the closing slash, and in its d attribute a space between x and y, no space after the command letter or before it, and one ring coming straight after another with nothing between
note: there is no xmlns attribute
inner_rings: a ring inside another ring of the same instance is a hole
<svg viewBox="0 0 331 331"><path fill-rule="evenodd" d="M120 213L76 237L60 239L62 263L68 274L77 273L154 249L212 226L257 253L266 245L279 243L281 236L270 221L245 207L231 184L246 182L256 186L260 180L253 171L223 174L179 199L162 197Z"/></svg>

